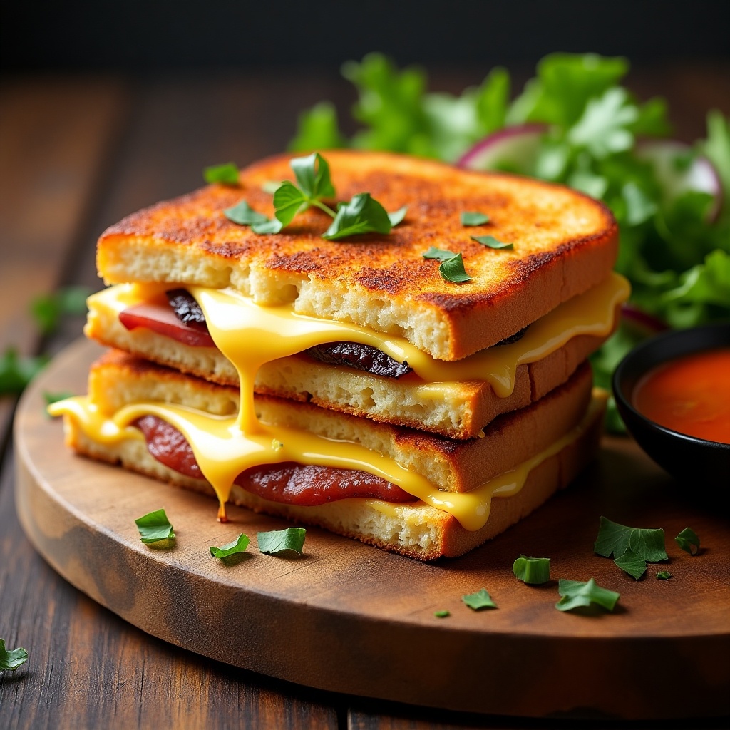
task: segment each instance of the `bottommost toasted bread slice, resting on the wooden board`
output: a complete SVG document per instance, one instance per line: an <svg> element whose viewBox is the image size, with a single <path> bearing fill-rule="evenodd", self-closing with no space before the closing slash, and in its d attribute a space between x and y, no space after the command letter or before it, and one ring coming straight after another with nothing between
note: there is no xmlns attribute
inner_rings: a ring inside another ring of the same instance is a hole
<svg viewBox="0 0 730 730"><path fill-rule="evenodd" d="M343 499L320 507L293 507L261 499L234 485L231 502L256 512L279 516L305 525L321 526L337 534L353 537L423 561L455 558L496 537L537 509L558 488L564 488L595 456L602 431L602 411L596 413L583 434L533 469L515 496L492 500L485 526L477 531L464 529L452 516L422 502L401 504L388 515L365 499ZM72 419L64 419L66 442L78 453L139 472L172 485L215 496L203 480L191 479L168 469L145 447L142 439L118 445L99 445L89 440ZM211 507L211 520L215 511Z"/></svg>

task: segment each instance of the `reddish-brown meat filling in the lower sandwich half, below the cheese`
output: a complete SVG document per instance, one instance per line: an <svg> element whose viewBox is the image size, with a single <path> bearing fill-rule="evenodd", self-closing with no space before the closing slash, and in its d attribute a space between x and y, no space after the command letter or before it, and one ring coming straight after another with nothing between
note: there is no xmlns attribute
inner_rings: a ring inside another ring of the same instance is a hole
<svg viewBox="0 0 730 730"><path fill-rule="evenodd" d="M153 415L138 418L133 425L145 434L147 450L158 461L185 476L204 479L190 444L174 426ZM234 483L271 502L300 507L316 507L348 497L382 499L383 502L417 501L412 494L368 472L294 464L292 461L247 469Z"/></svg>

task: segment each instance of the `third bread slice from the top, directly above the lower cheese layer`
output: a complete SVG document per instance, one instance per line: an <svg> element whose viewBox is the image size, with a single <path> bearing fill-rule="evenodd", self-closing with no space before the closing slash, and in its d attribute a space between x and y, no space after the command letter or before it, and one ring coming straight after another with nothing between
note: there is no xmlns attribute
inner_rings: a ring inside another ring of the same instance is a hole
<svg viewBox="0 0 730 730"><path fill-rule="evenodd" d="M583 418L591 396L591 369L583 364L567 383L531 406L496 418L480 439L457 441L389 426L308 403L257 396L258 418L337 441L353 442L388 456L439 489L469 491L547 447ZM235 415L236 388L184 375L111 350L89 372L88 393L113 413L144 401L181 404L213 415Z"/></svg>

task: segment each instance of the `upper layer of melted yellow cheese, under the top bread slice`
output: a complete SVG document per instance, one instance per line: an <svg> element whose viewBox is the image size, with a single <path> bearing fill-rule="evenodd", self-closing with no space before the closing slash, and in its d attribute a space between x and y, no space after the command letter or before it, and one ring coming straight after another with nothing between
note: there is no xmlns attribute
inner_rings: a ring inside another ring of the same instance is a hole
<svg viewBox="0 0 730 730"><path fill-rule="evenodd" d="M174 286L118 285L94 294L91 299L96 306L119 313ZM188 287L188 291L199 301L213 341L236 366L242 386L244 381L247 383L248 393L253 392L253 380L262 364L315 345L348 341L377 347L394 360L407 362L423 380L419 387L424 398L443 397L451 384L466 380L487 381L498 396L506 397L514 390L518 366L542 360L573 337L604 337L610 333L616 307L629 296L629 283L620 274L610 274L598 286L532 323L517 342L489 347L456 362L434 360L404 337L347 322L298 315L291 306L261 307L232 290ZM274 332L279 336L273 337Z"/></svg>

